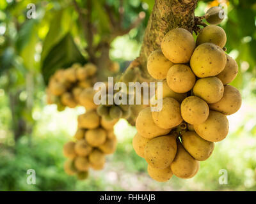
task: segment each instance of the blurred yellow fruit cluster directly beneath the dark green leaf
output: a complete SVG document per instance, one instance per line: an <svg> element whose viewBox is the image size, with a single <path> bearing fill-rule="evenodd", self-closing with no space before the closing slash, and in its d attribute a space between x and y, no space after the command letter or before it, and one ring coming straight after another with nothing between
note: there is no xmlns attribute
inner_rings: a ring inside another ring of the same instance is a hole
<svg viewBox="0 0 256 204"><path fill-rule="evenodd" d="M96 72L97 67L92 63L84 66L76 63L70 68L58 69L49 80L47 103L55 103L60 111L66 106L69 108L75 108L77 105L94 107L90 96L93 93L92 85L95 83Z"/></svg>

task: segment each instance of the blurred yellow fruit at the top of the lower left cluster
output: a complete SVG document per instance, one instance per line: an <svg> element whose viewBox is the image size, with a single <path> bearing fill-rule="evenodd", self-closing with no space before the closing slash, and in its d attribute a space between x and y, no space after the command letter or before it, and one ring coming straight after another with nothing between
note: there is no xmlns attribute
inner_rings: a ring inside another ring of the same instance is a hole
<svg viewBox="0 0 256 204"><path fill-rule="evenodd" d="M93 129L100 124L100 117L95 110L89 110L77 118L78 128Z"/></svg>

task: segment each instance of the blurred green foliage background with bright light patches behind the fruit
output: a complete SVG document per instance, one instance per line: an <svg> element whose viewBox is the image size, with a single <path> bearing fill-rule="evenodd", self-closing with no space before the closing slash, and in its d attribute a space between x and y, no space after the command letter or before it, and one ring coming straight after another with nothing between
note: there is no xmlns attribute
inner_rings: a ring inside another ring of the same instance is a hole
<svg viewBox="0 0 256 204"><path fill-rule="evenodd" d="M35 19L26 18L29 3L36 5ZM104 38L111 26L103 3L118 10L118 1L93 1L93 22L100 28L96 40ZM198 1L195 13L202 16L219 4L227 11L221 23L227 33L227 52L239 64L232 85L241 92L243 104L228 117L227 139L216 143L196 177L173 177L162 184L150 179L147 163L132 149L136 129L124 119L115 126L118 147L108 156L104 170L91 171L82 181L65 174L63 144L76 132L77 115L85 110L58 112L56 105L47 105L45 76L52 66L76 62L67 54L74 46L67 36L86 58L79 17L70 0L0 0L0 191L256 191L256 2ZM124 0L124 27L141 12L145 18L111 42L110 58L122 70L138 57L153 6L153 0ZM27 184L28 169L36 171L36 185ZM221 170L227 170L228 184L219 184Z"/></svg>

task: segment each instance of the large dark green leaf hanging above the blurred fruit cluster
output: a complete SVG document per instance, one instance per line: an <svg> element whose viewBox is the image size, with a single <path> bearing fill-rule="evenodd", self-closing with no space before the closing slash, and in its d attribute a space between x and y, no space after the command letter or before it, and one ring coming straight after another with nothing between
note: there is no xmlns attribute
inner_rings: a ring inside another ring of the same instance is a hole
<svg viewBox="0 0 256 204"><path fill-rule="evenodd" d="M81 52L78 50L72 36L68 33L45 57L42 62L42 74L45 84L48 84L51 75L60 68L68 68L73 63L86 62Z"/></svg>

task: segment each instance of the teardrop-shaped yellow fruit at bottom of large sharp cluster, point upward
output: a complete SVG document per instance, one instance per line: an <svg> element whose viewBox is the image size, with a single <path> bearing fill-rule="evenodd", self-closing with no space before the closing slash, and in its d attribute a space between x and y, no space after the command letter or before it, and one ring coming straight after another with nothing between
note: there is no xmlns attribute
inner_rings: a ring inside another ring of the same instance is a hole
<svg viewBox="0 0 256 204"><path fill-rule="evenodd" d="M171 170L176 177L190 179L198 171L199 162L190 156L180 142L178 142L177 146L177 154L171 164Z"/></svg>

